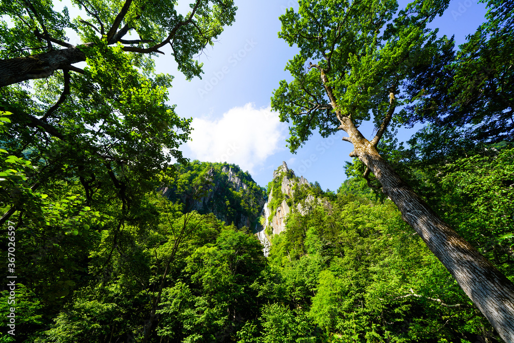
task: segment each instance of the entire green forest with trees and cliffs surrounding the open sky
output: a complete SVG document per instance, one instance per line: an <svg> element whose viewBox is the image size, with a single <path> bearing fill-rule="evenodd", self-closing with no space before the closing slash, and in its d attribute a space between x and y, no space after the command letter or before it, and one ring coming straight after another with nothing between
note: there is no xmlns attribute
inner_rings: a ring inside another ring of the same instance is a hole
<svg viewBox="0 0 514 343"><path fill-rule="evenodd" d="M292 152L346 132L332 192L182 155L154 59L199 77L233 1L71 2L0 0L0 342L514 341L514 3L458 47L446 0L285 11L271 106Z"/></svg>

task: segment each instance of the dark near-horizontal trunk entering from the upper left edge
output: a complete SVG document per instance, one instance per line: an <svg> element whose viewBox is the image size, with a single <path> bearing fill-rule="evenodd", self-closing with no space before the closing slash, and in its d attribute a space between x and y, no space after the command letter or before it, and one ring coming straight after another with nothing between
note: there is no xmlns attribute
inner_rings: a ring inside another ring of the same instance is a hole
<svg viewBox="0 0 514 343"><path fill-rule="evenodd" d="M87 43L83 46L90 44ZM55 70L65 69L71 64L85 60L85 53L78 47L51 50L29 57L0 60L0 87L26 80L47 78Z"/></svg>

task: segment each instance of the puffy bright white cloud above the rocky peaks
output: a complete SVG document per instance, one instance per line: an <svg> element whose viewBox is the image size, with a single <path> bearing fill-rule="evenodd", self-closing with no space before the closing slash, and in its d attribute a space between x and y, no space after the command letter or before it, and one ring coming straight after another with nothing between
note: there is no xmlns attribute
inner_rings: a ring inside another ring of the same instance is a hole
<svg viewBox="0 0 514 343"><path fill-rule="evenodd" d="M234 107L222 118L194 118L192 141L187 146L192 158L225 162L253 171L268 156L285 149L287 124L281 123L270 107L255 109L254 104Z"/></svg>

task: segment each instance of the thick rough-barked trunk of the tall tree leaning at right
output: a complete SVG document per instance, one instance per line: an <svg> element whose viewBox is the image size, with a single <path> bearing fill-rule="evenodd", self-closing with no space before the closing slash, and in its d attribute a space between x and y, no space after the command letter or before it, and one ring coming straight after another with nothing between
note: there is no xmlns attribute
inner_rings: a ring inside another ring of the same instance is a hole
<svg viewBox="0 0 514 343"><path fill-rule="evenodd" d="M350 137L357 138L352 134ZM514 342L514 284L445 223L376 148L362 138L352 139L354 154L375 174L383 192L398 206L403 220L425 241L503 340Z"/></svg>

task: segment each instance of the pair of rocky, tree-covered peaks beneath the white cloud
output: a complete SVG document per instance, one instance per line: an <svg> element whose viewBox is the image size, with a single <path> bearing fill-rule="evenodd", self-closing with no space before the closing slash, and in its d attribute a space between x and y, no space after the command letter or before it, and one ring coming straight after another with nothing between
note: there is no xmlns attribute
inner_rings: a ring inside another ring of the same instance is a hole
<svg viewBox="0 0 514 343"><path fill-rule="evenodd" d="M296 176L285 162L273 172L266 203L264 189L235 165L193 161L177 168L170 183L173 186L160 191L170 201L184 204L186 210L210 212L227 224L246 226L263 244L265 256L273 234L286 230L290 213L305 215L316 206L330 206L320 196L323 192L319 185Z"/></svg>

